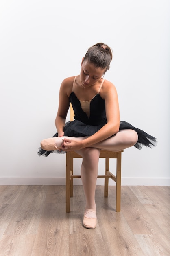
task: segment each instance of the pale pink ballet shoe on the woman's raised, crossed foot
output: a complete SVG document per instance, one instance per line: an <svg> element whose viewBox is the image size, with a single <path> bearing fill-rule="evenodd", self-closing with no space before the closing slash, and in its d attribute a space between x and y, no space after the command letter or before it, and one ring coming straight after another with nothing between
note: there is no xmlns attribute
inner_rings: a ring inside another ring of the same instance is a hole
<svg viewBox="0 0 170 256"><path fill-rule="evenodd" d="M54 137L49 139L43 139L41 141L41 148L46 151L53 151L61 149L63 143L63 137Z"/></svg>

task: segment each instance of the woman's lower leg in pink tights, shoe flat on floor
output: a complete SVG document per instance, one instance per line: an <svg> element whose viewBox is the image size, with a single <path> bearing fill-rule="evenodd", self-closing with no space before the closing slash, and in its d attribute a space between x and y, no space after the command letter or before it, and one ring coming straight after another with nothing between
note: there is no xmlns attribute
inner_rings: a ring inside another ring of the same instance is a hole
<svg viewBox="0 0 170 256"><path fill-rule="evenodd" d="M83 148L76 152L83 158L81 165L81 180L86 200L83 225L86 228L94 229L97 222L95 191L100 150L98 148Z"/></svg>

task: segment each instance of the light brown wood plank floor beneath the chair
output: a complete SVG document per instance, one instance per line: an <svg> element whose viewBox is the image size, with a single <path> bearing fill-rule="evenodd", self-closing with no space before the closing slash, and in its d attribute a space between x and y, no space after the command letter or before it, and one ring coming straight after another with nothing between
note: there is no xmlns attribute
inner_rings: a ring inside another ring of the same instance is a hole
<svg viewBox="0 0 170 256"><path fill-rule="evenodd" d="M170 256L170 187L96 187L97 227L82 226L85 199L74 186L65 212L65 186L0 186L0 256Z"/></svg>

